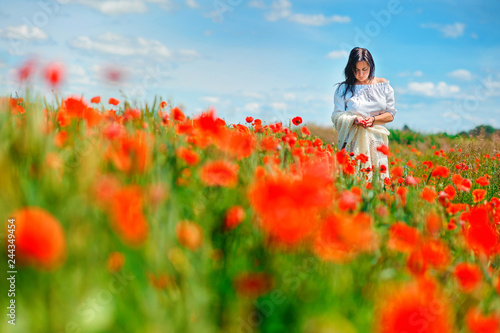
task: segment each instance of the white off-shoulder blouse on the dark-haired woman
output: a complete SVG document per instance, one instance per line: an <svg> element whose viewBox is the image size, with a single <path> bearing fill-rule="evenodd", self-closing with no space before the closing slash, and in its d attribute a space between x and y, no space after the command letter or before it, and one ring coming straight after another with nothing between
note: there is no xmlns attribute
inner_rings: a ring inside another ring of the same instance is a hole
<svg viewBox="0 0 500 333"><path fill-rule="evenodd" d="M363 117L389 112L396 116L394 89L389 81L355 85L354 94L348 91L344 98L345 89L346 85L342 84L335 90L333 112L351 111Z"/></svg>

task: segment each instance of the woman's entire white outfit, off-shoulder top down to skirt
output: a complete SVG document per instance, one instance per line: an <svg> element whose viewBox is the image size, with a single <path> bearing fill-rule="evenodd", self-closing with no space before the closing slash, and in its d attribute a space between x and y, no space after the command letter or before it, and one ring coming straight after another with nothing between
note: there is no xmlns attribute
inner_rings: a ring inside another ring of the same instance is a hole
<svg viewBox="0 0 500 333"><path fill-rule="evenodd" d="M375 125L369 128L354 125L356 116L368 117L389 112L394 117L395 109L394 89L389 81L376 84L360 84L354 86L354 94L347 92L345 98L342 94L345 85L342 85L334 94L334 111L332 112L332 122L338 134L339 149L353 152L355 155L365 154L368 162L363 167L380 167L385 165L388 169L387 156L377 150L381 145L389 146L389 131L384 125ZM371 179L371 172L368 178ZM389 176L388 171L380 174L381 178Z"/></svg>

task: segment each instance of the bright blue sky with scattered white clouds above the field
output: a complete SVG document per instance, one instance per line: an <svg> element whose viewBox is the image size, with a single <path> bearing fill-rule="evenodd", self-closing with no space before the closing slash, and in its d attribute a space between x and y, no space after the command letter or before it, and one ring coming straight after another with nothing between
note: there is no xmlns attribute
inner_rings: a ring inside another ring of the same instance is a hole
<svg viewBox="0 0 500 333"><path fill-rule="evenodd" d="M500 128L500 2L465 0L0 0L0 92L16 68L65 66L64 95L155 95L229 123L330 126L352 47L395 89L389 128ZM109 82L105 73L122 73ZM50 97L41 81L36 89Z"/></svg>

